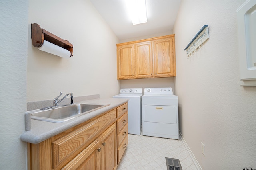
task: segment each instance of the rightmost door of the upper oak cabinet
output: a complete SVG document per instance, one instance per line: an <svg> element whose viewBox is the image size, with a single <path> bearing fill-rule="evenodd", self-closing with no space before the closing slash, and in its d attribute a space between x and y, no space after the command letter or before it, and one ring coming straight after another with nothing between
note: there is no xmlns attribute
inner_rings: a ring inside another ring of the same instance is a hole
<svg viewBox="0 0 256 170"><path fill-rule="evenodd" d="M176 76L174 38L156 40L154 48L154 77Z"/></svg>

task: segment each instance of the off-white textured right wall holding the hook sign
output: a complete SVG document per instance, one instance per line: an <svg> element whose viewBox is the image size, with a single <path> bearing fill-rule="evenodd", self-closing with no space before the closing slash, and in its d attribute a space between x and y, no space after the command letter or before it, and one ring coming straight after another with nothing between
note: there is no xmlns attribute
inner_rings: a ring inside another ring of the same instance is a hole
<svg viewBox="0 0 256 170"><path fill-rule="evenodd" d="M238 68L243 2L183 0L174 27L180 131L204 170L256 168L256 87L240 87ZM184 48L207 24L210 39L187 59Z"/></svg>

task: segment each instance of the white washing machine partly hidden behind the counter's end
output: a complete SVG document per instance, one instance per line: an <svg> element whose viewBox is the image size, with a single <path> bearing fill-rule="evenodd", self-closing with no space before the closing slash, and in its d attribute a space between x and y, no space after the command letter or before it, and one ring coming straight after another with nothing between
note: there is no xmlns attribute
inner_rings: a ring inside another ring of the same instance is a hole
<svg viewBox="0 0 256 170"><path fill-rule="evenodd" d="M140 135L142 129L142 88L122 88L113 98L128 100L128 133Z"/></svg>

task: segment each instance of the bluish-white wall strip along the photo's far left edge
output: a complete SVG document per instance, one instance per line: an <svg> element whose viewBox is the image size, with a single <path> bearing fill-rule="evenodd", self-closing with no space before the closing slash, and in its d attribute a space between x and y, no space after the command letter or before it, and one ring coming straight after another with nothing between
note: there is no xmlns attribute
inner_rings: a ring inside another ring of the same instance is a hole
<svg viewBox="0 0 256 170"><path fill-rule="evenodd" d="M0 0L0 169L26 169L28 1Z"/></svg>

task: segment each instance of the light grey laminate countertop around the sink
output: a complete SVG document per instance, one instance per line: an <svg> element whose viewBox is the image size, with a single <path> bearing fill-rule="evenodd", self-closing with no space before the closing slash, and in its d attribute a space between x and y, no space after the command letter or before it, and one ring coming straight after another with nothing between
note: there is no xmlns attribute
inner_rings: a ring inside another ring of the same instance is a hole
<svg viewBox="0 0 256 170"><path fill-rule="evenodd" d="M106 111L110 111L116 108L117 106L124 104L127 101L128 99L123 99L123 98L108 98L108 99L97 98L97 99L77 102L77 103L85 103L85 104L110 104L110 105L62 123L52 123L47 121L39 121L39 120L31 119L31 130L24 131L24 133L22 133L22 135L20 136L20 139L28 143L34 143L34 144L40 143L50 137L58 135L63 131L66 131L76 125L79 125L80 123L83 123L84 121L87 121L97 115L100 115Z"/></svg>

